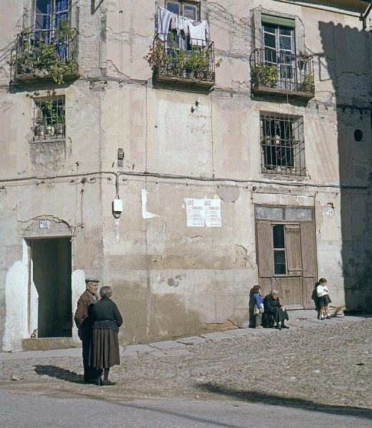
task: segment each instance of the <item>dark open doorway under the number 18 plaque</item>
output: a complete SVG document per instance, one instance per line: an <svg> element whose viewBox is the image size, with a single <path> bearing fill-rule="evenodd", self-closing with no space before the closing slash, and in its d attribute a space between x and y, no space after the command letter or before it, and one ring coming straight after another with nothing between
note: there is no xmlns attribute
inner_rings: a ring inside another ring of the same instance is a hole
<svg viewBox="0 0 372 428"><path fill-rule="evenodd" d="M71 337L71 242L31 240L32 279L37 292L38 337Z"/></svg>

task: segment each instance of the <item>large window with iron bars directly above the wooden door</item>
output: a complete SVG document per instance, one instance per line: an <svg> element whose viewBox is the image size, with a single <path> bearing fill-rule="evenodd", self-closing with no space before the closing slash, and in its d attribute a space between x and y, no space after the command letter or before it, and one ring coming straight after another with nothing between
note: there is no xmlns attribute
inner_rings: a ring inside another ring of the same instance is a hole
<svg viewBox="0 0 372 428"><path fill-rule="evenodd" d="M305 175L303 118L261 113L263 173Z"/></svg>

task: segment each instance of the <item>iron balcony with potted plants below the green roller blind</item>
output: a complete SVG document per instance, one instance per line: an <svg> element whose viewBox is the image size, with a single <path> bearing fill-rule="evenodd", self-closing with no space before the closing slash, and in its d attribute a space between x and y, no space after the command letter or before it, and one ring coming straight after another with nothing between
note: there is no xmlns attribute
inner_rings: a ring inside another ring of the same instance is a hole
<svg viewBox="0 0 372 428"><path fill-rule="evenodd" d="M250 58L253 93L299 98L315 96L313 58L271 49L256 49Z"/></svg>

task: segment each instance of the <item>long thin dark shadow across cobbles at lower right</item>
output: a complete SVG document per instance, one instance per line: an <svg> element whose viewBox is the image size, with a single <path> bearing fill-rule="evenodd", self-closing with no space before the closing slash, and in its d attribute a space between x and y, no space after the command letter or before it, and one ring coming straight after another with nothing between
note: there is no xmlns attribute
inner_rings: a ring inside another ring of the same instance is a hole
<svg viewBox="0 0 372 428"><path fill-rule="evenodd" d="M345 416L361 417L364 419L372 419L372 409L364 409L361 407L347 407L347 406L332 406L323 405L316 402L301 399L301 398L288 398L280 397L275 394L264 394L256 391L244 391L242 389L233 389L231 387L223 387L221 384L213 384L211 382L196 384L196 388L201 389L203 392L212 392L213 394L224 395L233 399L249 403L270 404L273 406L281 407L295 407L304 410L313 410L316 412L330 413L330 414L344 414Z"/></svg>

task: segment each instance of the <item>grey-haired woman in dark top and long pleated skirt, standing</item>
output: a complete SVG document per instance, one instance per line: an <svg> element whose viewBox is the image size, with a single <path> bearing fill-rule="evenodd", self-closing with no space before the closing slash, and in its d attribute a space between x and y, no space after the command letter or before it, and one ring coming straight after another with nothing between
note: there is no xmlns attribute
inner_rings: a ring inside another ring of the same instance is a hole
<svg viewBox="0 0 372 428"><path fill-rule="evenodd" d="M119 357L119 327L123 318L116 304L110 299L111 287L104 286L99 290L101 300L93 309L93 335L91 339L90 363L99 372L98 384L114 385L109 381L110 367L120 364ZM104 380L101 374L104 371Z"/></svg>

